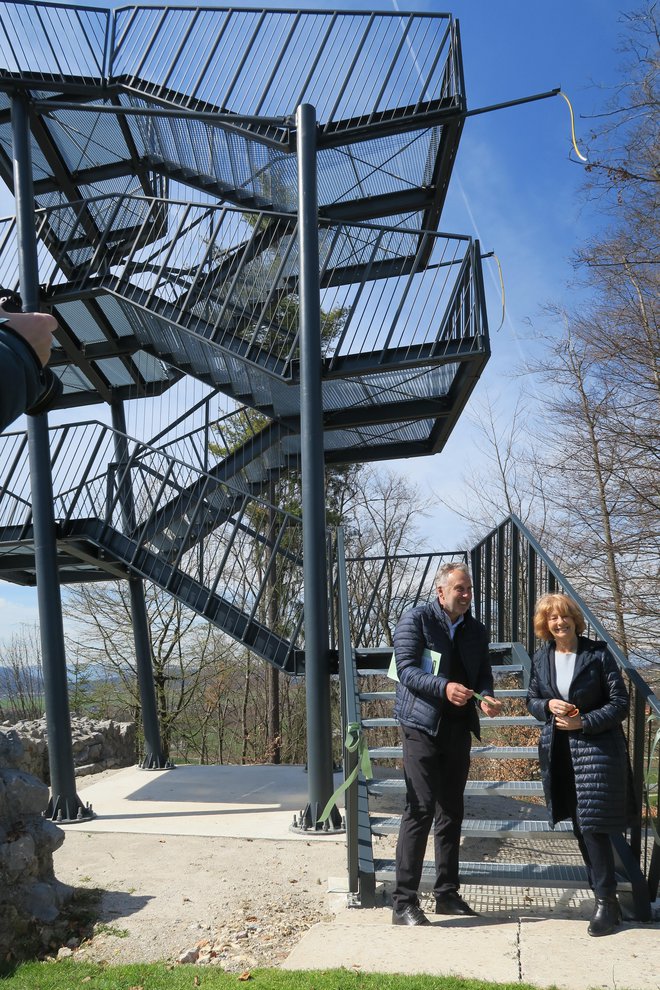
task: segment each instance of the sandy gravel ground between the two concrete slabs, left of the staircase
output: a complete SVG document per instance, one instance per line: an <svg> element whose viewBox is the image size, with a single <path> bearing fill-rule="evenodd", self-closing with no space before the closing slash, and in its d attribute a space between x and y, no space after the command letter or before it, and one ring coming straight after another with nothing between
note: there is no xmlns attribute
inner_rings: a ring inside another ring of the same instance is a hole
<svg viewBox="0 0 660 990"><path fill-rule="evenodd" d="M277 966L332 918L343 841L276 842L67 830L55 874L102 891L91 937L60 955L109 963L187 961L230 972Z"/></svg>

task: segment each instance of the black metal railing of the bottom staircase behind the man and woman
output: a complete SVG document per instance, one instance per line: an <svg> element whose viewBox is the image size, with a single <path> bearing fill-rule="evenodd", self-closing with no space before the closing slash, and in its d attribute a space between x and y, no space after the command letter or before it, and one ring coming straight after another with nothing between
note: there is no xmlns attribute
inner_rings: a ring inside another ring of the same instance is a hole
<svg viewBox="0 0 660 990"><path fill-rule="evenodd" d="M443 559L468 558L474 581L474 611L486 625L491 642L522 643L531 655L536 645L532 621L536 598L547 591L564 591L582 609L587 635L604 640L616 658L631 698L626 734L638 811L638 824L629 830L627 845L653 901L660 877L660 699L515 516L505 519L470 551L346 558L341 535L336 554L336 589L344 727L348 721L360 720L355 649L391 646L391 633L402 612L432 594L433 575ZM355 755L347 751L346 777L355 765ZM346 791L346 808L349 890L359 891L363 904L366 893L370 903L373 857L368 840L366 782L361 777Z"/></svg>

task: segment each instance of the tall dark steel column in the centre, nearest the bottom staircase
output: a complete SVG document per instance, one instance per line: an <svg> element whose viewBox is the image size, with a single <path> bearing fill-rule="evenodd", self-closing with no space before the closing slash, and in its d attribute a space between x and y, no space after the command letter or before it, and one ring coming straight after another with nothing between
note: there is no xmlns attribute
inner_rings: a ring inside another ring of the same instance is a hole
<svg viewBox="0 0 660 990"><path fill-rule="evenodd" d="M298 158L298 248L300 256L300 442L307 699L308 804L303 828L320 828L333 791L330 718L330 647L326 576L325 462L321 379L316 112L296 110ZM341 826L337 808L330 822Z"/></svg>

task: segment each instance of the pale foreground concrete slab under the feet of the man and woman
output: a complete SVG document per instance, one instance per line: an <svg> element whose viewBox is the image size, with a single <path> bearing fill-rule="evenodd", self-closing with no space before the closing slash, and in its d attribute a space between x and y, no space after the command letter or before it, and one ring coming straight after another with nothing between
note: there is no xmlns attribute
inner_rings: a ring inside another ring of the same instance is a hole
<svg viewBox="0 0 660 990"><path fill-rule="evenodd" d="M591 938L583 918L443 918L393 928L391 910L346 912L315 925L283 969L426 973L557 990L660 990L660 925L623 924Z"/></svg>

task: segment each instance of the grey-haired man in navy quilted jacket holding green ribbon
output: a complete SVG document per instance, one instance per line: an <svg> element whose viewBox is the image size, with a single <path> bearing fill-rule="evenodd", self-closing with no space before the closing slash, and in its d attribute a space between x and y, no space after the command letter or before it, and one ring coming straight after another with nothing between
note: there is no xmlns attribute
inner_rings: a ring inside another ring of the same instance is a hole
<svg viewBox="0 0 660 990"><path fill-rule="evenodd" d="M475 691L486 715L497 715L485 627L470 614L472 582L460 561L436 574L437 598L406 612L394 631L397 676L394 714L401 726L406 807L396 849L394 925L428 925L418 890L435 819L433 887L436 914L475 915L458 893L463 793L473 732L479 734ZM422 654L440 654L437 673Z"/></svg>

